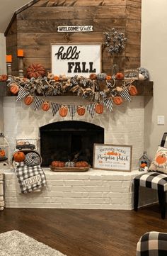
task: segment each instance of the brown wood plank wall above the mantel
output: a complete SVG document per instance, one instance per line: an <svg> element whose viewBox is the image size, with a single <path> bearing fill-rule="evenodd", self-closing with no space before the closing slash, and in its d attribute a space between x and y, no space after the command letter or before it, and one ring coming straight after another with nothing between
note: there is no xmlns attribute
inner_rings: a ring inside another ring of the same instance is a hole
<svg viewBox="0 0 167 256"><path fill-rule="evenodd" d="M125 51L120 69L140 67L142 0L39 0L16 12L6 30L7 55L13 55L12 70L18 75L17 49L25 52L24 68L41 63L51 70L51 44L104 43L103 32L112 28L125 33ZM93 26L93 32L57 33L57 26ZM113 59L102 49L102 72L111 74ZM25 72L26 74L26 72Z"/></svg>

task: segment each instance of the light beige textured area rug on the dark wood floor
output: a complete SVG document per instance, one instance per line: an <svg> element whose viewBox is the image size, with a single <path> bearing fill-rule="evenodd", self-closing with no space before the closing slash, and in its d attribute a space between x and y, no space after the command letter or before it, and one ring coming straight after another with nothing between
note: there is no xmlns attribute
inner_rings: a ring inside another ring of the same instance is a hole
<svg viewBox="0 0 167 256"><path fill-rule="evenodd" d="M17 230L0 234L1 256L67 256Z"/></svg>

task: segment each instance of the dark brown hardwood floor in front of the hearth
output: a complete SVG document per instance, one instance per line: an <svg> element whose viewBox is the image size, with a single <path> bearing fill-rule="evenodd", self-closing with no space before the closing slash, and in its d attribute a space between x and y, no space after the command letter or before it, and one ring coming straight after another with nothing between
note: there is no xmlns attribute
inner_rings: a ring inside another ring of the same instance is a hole
<svg viewBox="0 0 167 256"><path fill-rule="evenodd" d="M0 233L19 230L68 256L135 256L146 231L167 232L159 206L134 211L5 208Z"/></svg>

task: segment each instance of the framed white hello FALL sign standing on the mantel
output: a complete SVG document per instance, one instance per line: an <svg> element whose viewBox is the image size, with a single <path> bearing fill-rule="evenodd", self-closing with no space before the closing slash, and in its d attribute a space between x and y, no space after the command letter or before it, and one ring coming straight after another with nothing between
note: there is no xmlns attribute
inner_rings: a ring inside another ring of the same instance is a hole
<svg viewBox="0 0 167 256"><path fill-rule="evenodd" d="M52 45L52 73L67 77L101 72L101 44Z"/></svg>

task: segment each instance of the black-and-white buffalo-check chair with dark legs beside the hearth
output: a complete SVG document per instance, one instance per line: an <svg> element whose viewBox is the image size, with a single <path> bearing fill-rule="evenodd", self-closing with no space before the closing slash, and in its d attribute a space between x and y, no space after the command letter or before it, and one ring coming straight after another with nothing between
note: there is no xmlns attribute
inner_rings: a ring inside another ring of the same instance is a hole
<svg viewBox="0 0 167 256"><path fill-rule="evenodd" d="M161 147L165 145L166 138L167 133L163 133ZM138 209L139 187L148 187L158 191L159 204L161 206L161 218L166 218L167 174L146 172L134 178L134 211L137 211Z"/></svg>

